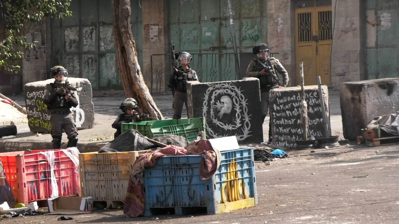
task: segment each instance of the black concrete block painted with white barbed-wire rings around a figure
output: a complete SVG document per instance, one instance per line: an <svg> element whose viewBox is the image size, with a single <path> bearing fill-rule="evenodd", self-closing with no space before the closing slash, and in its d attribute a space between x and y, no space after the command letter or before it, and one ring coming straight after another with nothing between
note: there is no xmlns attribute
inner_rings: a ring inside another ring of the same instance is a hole
<svg viewBox="0 0 399 224"><path fill-rule="evenodd" d="M259 79L187 83L188 116L205 117L209 138L236 136L239 143L262 142Z"/></svg>

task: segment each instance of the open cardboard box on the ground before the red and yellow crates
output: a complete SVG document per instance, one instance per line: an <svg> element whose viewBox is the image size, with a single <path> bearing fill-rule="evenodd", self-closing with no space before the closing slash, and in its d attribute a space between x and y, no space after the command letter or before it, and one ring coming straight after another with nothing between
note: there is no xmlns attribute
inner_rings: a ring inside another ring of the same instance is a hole
<svg viewBox="0 0 399 224"><path fill-rule="evenodd" d="M57 196L47 199L53 214L79 214L93 210L93 197Z"/></svg>

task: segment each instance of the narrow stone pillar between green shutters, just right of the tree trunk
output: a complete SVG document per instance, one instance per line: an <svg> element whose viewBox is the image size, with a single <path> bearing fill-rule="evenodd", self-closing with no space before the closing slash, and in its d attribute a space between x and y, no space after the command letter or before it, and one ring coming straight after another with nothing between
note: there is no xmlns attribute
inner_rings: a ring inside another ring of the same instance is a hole
<svg viewBox="0 0 399 224"><path fill-rule="evenodd" d="M153 56L153 71L151 74L151 55L169 53L168 37L168 1L143 0L142 1L142 49L143 49L143 77L148 88L151 88L151 79L154 85L165 88L165 79L169 62L164 56ZM163 72L162 77L159 75ZM158 74L158 76L157 76ZM156 88L154 86L154 88Z"/></svg>

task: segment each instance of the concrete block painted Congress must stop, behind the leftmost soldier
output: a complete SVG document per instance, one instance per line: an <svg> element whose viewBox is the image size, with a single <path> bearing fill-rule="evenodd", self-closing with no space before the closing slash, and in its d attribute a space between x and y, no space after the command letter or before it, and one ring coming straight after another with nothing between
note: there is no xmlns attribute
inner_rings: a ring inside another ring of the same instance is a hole
<svg viewBox="0 0 399 224"><path fill-rule="evenodd" d="M43 94L45 85L53 82L54 79L47 79L25 84L25 105L31 132L50 132L50 111L43 102ZM80 78L68 78L68 82L75 88L81 87L81 90L75 93L79 105L76 108L71 108L77 129L93 128L94 105L91 83L87 79Z"/></svg>

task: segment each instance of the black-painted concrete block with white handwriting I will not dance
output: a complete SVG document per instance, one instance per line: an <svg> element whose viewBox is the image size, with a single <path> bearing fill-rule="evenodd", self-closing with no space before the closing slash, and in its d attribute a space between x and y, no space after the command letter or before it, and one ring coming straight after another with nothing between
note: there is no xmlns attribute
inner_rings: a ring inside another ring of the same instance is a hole
<svg viewBox="0 0 399 224"><path fill-rule="evenodd" d="M300 87L274 88L270 91L270 122L273 144L286 148L296 147L296 140L303 139L300 117ZM329 116L328 88L322 85L326 116ZM305 86L308 109L308 135L326 137L318 86Z"/></svg>

